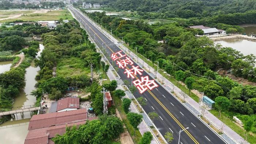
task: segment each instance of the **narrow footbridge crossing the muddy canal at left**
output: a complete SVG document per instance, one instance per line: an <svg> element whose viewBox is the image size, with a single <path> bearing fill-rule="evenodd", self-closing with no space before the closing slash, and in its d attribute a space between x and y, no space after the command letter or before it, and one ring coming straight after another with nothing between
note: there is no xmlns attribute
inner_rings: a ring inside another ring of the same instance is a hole
<svg viewBox="0 0 256 144"><path fill-rule="evenodd" d="M9 115L9 114L17 114L17 113L24 113L28 111L36 111L39 107L36 107L35 105L29 105L29 106L22 106L22 107L14 107L13 110L10 111L1 111L0 116L3 115Z"/></svg>

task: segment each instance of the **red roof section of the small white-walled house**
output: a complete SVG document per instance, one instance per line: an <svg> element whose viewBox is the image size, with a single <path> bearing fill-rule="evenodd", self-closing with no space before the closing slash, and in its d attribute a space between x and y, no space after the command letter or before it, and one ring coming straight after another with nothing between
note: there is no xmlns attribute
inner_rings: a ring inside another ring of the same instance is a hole
<svg viewBox="0 0 256 144"><path fill-rule="evenodd" d="M79 98L68 97L58 101L57 111L67 108L79 109Z"/></svg>

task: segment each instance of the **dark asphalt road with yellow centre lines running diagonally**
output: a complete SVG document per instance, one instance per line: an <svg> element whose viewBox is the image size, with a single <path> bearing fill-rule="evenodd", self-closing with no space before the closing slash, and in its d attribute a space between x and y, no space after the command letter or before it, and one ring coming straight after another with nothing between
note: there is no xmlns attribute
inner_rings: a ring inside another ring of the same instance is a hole
<svg viewBox="0 0 256 144"><path fill-rule="evenodd" d="M72 9L75 11L80 19L82 24L86 27L87 33L91 38L95 39L95 43L99 48L102 49L102 43L105 50L105 56L108 58L110 63L112 63L111 54L119 52L119 49L108 37L106 37L101 31L99 31L93 24L91 24L78 10ZM105 43L104 43L105 42ZM123 51L121 54L125 54ZM123 57L124 58L124 57ZM122 59L122 58L121 58ZM132 60L133 61L133 60ZM133 61L133 66L138 66L135 61ZM116 61L113 62L116 67ZM114 66L113 65L113 66ZM132 69L131 65L127 65L127 69ZM127 74L124 73L124 69L119 68L117 73L122 80L128 80L131 83L131 77L127 78ZM133 79L140 79L140 77L148 76L150 80L153 80L153 77L148 75L147 72L143 71L142 75L137 74ZM156 82L156 81L155 81ZM157 82L158 83L158 82ZM180 129L189 127L189 129L181 132L180 143L182 144L225 144L221 137L212 131L209 126L204 124L196 115L191 113L180 101L178 101L175 96L168 92L160 83L158 87L153 88L152 90L147 90L144 93L140 94L137 90L134 93L136 98L143 96L147 100L147 105L143 106L143 109L146 113L155 111L159 115L158 120L154 120L155 126L157 126L159 132L164 136L166 132L173 132L173 142L178 143L178 132Z"/></svg>

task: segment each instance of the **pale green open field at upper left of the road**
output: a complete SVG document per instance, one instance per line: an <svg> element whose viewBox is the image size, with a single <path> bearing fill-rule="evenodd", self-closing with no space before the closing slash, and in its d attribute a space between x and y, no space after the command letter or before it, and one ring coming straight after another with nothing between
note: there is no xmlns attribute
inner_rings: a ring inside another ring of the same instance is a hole
<svg viewBox="0 0 256 144"><path fill-rule="evenodd" d="M22 12L24 13L24 12ZM39 21L39 20L59 20L60 18L63 19L73 19L72 15L67 9L64 10L56 10L56 11L48 11L46 13L35 13L32 14L33 12L28 12L25 15L22 15L18 18L13 18L13 19L5 19L5 20L0 20L0 23L3 22L12 22L14 20L23 20L23 21ZM0 12L1 15L1 12Z"/></svg>

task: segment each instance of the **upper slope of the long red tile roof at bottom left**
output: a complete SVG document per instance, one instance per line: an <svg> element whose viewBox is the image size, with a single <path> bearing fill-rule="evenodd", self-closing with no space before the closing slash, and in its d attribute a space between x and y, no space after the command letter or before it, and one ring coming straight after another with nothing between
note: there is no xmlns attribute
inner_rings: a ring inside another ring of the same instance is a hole
<svg viewBox="0 0 256 144"><path fill-rule="evenodd" d="M78 109L48 114L33 115L29 121L28 130L47 128L87 120L87 110Z"/></svg>

